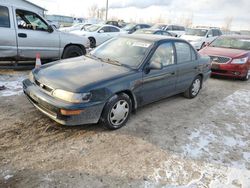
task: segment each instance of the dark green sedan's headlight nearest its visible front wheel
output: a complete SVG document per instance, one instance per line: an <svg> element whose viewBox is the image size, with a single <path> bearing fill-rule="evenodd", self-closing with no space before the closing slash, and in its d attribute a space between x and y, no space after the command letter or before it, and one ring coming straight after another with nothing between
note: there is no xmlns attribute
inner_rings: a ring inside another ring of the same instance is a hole
<svg viewBox="0 0 250 188"><path fill-rule="evenodd" d="M72 93L61 89L54 90L52 95L58 99L71 103L89 102L91 98L91 93Z"/></svg>

